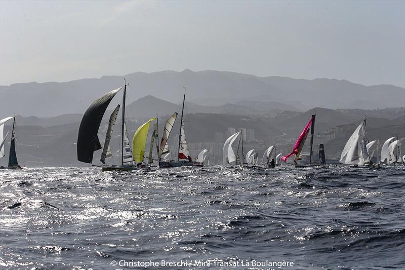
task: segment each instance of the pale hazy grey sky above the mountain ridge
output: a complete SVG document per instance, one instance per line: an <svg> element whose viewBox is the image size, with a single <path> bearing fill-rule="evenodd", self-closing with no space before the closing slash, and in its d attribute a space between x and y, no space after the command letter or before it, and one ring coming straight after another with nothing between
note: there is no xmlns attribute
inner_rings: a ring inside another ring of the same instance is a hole
<svg viewBox="0 0 405 270"><path fill-rule="evenodd" d="M0 84L214 69L405 86L405 2L0 0Z"/></svg>

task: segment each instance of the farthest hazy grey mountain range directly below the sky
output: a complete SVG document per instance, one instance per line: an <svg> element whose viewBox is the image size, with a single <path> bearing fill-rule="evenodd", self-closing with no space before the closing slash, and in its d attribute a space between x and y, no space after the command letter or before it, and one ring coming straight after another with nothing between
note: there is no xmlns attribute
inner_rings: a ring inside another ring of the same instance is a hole
<svg viewBox="0 0 405 270"><path fill-rule="evenodd" d="M100 79L64 83L0 86L0 112L2 115L16 113L38 117L83 113L95 98L122 86L123 78L130 83L128 104L147 95L180 104L183 86L187 88L189 102L209 107L243 105L250 108L240 113L247 114L255 114L254 110L260 111L260 106L250 105L252 101L263 104L272 102L272 107L284 106L284 110L307 110L311 107L374 109L402 107L405 102L405 90L392 85L363 86L345 80L297 80L279 76L259 77L228 71L194 72L185 69L182 72L135 72L124 76L103 76ZM212 108L204 106L198 109L196 105L192 107L195 111L212 111Z"/></svg>

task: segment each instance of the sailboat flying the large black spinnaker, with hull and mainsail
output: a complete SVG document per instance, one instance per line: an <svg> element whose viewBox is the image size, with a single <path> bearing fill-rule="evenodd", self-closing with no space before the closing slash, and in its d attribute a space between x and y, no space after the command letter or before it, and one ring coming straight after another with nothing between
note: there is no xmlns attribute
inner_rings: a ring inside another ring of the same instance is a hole
<svg viewBox="0 0 405 270"><path fill-rule="evenodd" d="M125 79L124 79L125 80ZM110 139L112 130L114 128L119 104L112 111L110 119L108 121L107 133L105 136L105 141L103 147L101 147L100 140L98 138L98 130L100 128L101 120L105 110L107 109L112 98L118 93L122 87L102 95L88 107L85 114L83 115L82 122L80 122L79 132L77 136L77 160L85 163L90 163L93 165L93 153L96 150L103 148L101 154L101 163L103 163L103 171L119 170L119 171L130 171L139 169L134 165L134 158L132 155L132 150L130 146L130 141L128 138L127 127L125 124L125 98L127 92L127 83L124 85L123 102L122 102L122 118L121 118L121 164L120 165L105 165L105 159L112 156L110 149ZM97 166L97 165L93 165Z"/></svg>

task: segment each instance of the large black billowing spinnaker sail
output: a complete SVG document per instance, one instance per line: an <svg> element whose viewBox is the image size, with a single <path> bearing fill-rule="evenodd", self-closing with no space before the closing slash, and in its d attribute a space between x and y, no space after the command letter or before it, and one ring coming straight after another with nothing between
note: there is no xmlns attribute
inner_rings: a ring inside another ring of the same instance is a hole
<svg viewBox="0 0 405 270"><path fill-rule="evenodd" d="M92 163L93 152L101 149L97 132L108 104L120 89L112 90L96 99L83 115L77 136L78 161Z"/></svg>

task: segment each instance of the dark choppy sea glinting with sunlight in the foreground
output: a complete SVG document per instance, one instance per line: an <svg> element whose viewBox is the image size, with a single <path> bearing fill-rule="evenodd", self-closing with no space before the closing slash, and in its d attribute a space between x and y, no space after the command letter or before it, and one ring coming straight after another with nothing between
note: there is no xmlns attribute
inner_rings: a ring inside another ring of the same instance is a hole
<svg viewBox="0 0 405 270"><path fill-rule="evenodd" d="M405 267L405 167L37 168L0 170L0 183L0 268Z"/></svg>

